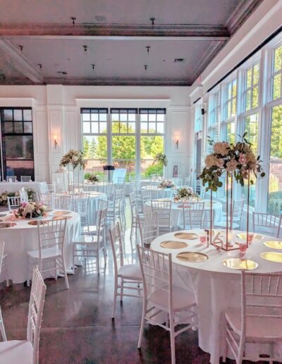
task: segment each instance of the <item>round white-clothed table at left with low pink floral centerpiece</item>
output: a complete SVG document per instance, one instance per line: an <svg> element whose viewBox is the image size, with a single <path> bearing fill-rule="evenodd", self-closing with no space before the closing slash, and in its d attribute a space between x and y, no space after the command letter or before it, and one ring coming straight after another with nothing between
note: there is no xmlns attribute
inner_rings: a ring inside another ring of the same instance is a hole
<svg viewBox="0 0 282 364"><path fill-rule="evenodd" d="M51 219L56 216L54 212L58 211L61 210L51 210L46 219ZM4 217L3 215L6 216ZM72 241L80 233L80 215L70 211L69 214L64 216L71 217L66 222L65 242L66 269L71 272L73 266ZM4 253L7 255L6 277L7 279L11 279L13 283L23 283L27 280L27 251L38 249L37 225L28 224L32 219L16 219L11 221L9 212L1 213L0 219L2 222L16 224L16 226L9 228L0 227L0 240L5 241ZM44 275L44 278L47 278L47 276Z"/></svg>

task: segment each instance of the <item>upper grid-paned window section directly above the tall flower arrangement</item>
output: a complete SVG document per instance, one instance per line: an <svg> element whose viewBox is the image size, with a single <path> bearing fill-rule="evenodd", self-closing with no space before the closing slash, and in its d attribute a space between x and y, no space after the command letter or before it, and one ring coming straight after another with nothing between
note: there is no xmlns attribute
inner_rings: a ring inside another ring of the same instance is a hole
<svg viewBox="0 0 282 364"><path fill-rule="evenodd" d="M255 63L245 72L245 111L259 106L259 63Z"/></svg>

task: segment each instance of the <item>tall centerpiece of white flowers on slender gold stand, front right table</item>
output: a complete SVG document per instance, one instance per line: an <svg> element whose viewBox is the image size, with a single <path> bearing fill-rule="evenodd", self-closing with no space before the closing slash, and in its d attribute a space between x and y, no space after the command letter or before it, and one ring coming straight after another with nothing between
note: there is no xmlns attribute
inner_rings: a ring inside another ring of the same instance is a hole
<svg viewBox="0 0 282 364"><path fill-rule="evenodd" d="M250 185L254 184L254 179L258 176L264 177L262 170L262 160L256 157L252 152L252 144L246 139L247 133L243 135L240 142L236 144L228 142L216 142L209 140L209 144L213 147L213 152L208 154L204 160L206 165L202 170L199 178L202 179L203 186L206 191L211 192L211 223L209 231L209 241L212 242L212 193L223 186L221 177L226 177L226 245L228 250L228 207L230 206L230 222L232 222L232 203L233 203L233 178L241 186L247 181L247 245L249 238L249 206L250 206ZM228 182L230 181L230 205L228 204ZM229 229L231 230L232 224Z"/></svg>

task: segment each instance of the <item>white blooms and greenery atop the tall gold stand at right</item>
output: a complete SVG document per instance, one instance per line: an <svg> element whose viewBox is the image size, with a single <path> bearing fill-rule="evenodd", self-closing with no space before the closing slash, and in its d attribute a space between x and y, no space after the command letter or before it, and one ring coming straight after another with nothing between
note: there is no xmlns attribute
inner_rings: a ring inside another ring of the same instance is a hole
<svg viewBox="0 0 282 364"><path fill-rule="evenodd" d="M204 160L206 166L202 170L199 178L202 179L203 186L207 183L206 190L216 191L222 186L219 178L224 172L235 177L235 181L244 186L244 180L249 176L264 177L262 170L262 160L256 157L252 152L252 144L245 138L245 133L240 142L235 145L228 142L214 142L209 140L209 144L213 145L214 152L207 155ZM253 184L253 179L250 179L250 184Z"/></svg>

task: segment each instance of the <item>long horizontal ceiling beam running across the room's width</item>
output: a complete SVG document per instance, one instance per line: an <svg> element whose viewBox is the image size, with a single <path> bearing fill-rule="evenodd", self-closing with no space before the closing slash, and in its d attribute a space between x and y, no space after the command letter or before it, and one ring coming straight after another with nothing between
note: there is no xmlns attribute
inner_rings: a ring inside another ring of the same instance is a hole
<svg viewBox="0 0 282 364"><path fill-rule="evenodd" d="M224 25L128 25L128 24L0 24L0 37L185 37L208 40L227 40L230 37Z"/></svg>

